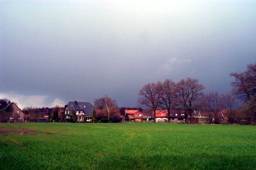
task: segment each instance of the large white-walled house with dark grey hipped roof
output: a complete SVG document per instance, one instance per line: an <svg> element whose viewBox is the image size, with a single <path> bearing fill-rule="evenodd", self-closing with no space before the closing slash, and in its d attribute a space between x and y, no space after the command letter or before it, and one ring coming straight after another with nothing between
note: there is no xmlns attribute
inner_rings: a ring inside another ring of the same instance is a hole
<svg viewBox="0 0 256 170"><path fill-rule="evenodd" d="M78 122L91 122L94 106L90 102L68 102L64 107L65 119L72 119L73 110L76 110Z"/></svg>

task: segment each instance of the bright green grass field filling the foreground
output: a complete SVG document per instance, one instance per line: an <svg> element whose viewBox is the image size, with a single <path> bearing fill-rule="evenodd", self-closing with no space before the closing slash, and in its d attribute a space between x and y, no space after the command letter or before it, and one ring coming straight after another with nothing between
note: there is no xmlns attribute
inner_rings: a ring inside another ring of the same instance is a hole
<svg viewBox="0 0 256 170"><path fill-rule="evenodd" d="M256 170L256 126L0 124L0 170L12 169Z"/></svg>

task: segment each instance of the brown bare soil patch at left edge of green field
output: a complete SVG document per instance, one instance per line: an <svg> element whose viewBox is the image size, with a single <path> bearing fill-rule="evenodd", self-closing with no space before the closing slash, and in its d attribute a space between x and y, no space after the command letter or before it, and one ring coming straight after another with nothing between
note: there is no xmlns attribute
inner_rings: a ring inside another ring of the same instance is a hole
<svg viewBox="0 0 256 170"><path fill-rule="evenodd" d="M17 133L19 135L25 135L25 134L32 134L34 133L45 133L45 134L53 134L53 133L47 133L47 132L42 132L42 131L36 131L36 130L31 130L27 128L16 128L16 127L0 127L0 134L3 133L5 136L8 135L8 133Z"/></svg>

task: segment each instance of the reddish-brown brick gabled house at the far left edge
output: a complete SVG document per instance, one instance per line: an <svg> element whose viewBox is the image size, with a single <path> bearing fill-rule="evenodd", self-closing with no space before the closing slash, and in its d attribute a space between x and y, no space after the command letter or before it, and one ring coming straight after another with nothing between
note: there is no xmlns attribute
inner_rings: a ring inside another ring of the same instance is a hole
<svg viewBox="0 0 256 170"><path fill-rule="evenodd" d="M14 103L9 102L8 105L1 110L1 112L6 112L9 120L7 122L13 123L23 123L25 122L25 114L20 110L20 108Z"/></svg>

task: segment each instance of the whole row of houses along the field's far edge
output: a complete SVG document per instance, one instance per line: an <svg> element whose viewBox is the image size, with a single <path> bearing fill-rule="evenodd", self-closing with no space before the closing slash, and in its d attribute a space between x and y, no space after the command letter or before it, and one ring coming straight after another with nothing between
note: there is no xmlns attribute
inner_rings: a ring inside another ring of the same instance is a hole
<svg viewBox="0 0 256 170"><path fill-rule="evenodd" d="M12 112L9 113L9 121L8 122L28 122L29 121L29 115L25 115L22 110L14 103L9 102L6 108L4 108L2 111L6 110L7 108L12 107ZM59 111L65 113L66 119L72 118L72 112L73 110L76 110L76 115L78 118L78 122L91 122L93 110L95 110L95 107L90 102L78 102L78 101L70 101L68 102L64 110ZM217 118L212 116L209 112L200 112L200 111L194 111L189 117L189 120L194 122L207 122L209 119L212 119L212 121L216 121L215 119L218 119L218 121L226 121L227 120L227 110L222 110L217 114ZM153 116L153 113L152 113ZM139 110L125 110L124 117L128 117L129 120L135 121L135 122L141 122L143 119L149 120L150 116L146 116L144 112L141 112ZM183 110L171 110L170 111L170 121L185 121L185 114ZM40 119L42 122L45 122L48 120L48 116L45 115L45 117ZM156 122L166 122L168 121L168 112L167 110L156 110Z"/></svg>

